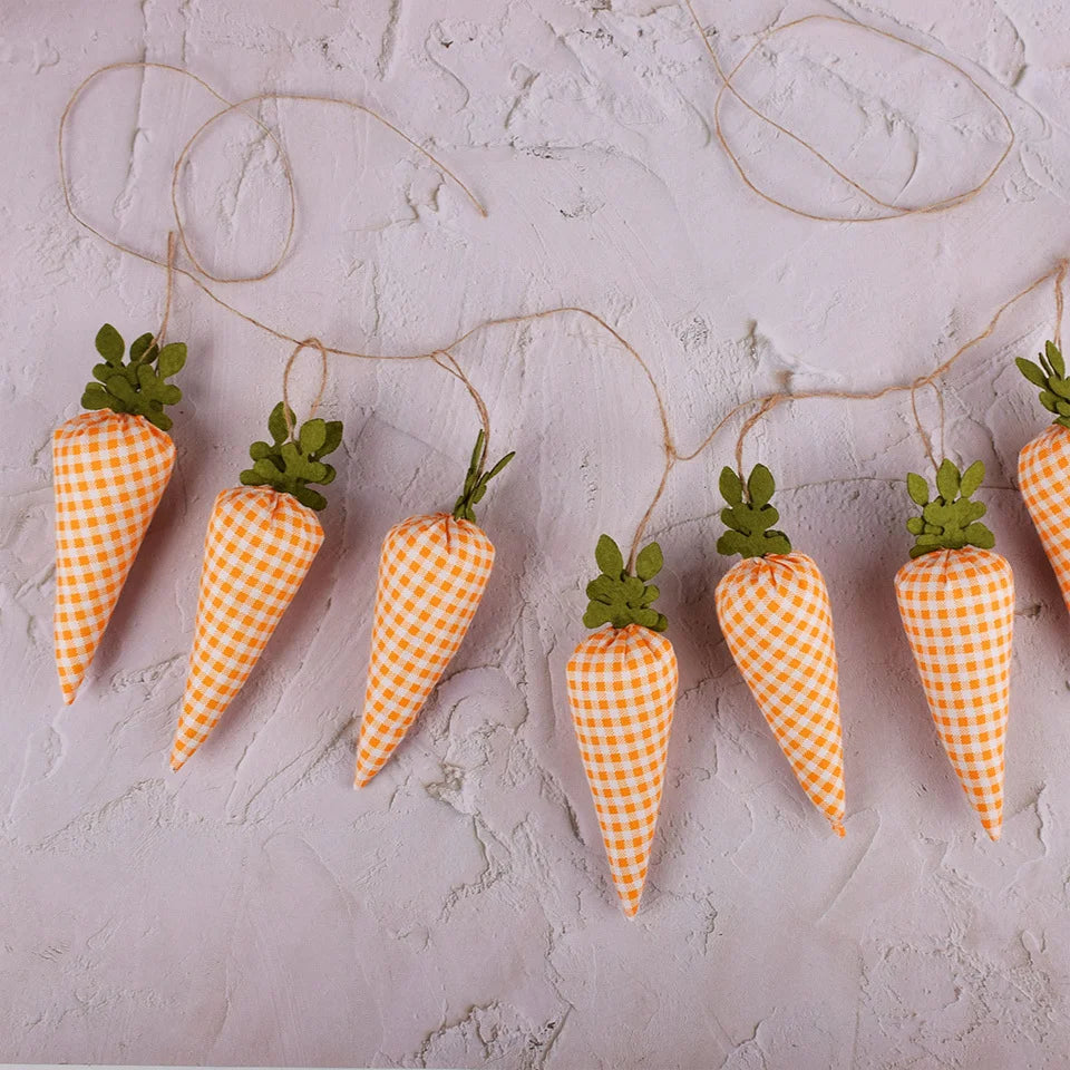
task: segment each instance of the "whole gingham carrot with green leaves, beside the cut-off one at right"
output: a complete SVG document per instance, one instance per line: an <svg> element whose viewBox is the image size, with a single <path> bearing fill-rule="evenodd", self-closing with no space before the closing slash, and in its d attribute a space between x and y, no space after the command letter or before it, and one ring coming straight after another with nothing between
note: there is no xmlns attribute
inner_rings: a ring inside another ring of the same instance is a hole
<svg viewBox="0 0 1070 1070"><path fill-rule="evenodd" d="M944 460L930 500L926 480L907 476L922 515L906 525L915 544L895 576L895 596L944 749L981 824L999 839L1014 576L980 523L984 504L970 500L983 479L980 460L961 475Z"/></svg>

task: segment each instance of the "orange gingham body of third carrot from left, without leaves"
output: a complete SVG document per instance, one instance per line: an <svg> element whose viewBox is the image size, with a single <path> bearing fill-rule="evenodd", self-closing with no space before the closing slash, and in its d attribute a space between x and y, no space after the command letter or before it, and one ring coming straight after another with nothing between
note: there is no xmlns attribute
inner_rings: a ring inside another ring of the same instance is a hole
<svg viewBox="0 0 1070 1070"><path fill-rule="evenodd" d="M387 533L357 749L358 788L383 767L457 653L493 565L490 539L449 513L412 516Z"/></svg>

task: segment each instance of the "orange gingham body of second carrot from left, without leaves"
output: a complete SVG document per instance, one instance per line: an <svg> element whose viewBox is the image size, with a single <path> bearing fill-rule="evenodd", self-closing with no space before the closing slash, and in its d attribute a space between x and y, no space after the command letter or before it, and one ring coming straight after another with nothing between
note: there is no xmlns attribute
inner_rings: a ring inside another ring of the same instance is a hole
<svg viewBox="0 0 1070 1070"><path fill-rule="evenodd" d="M215 499L173 769L207 739L241 691L322 543L315 513L293 495L234 487Z"/></svg>

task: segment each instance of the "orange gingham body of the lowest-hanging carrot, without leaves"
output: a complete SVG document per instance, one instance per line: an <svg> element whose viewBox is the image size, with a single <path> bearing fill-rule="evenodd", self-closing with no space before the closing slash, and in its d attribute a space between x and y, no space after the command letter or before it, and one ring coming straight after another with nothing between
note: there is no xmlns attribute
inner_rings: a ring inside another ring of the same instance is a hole
<svg viewBox="0 0 1070 1070"><path fill-rule="evenodd" d="M677 656L650 629L606 625L576 648L566 677L610 872L624 913L634 917L665 779Z"/></svg>

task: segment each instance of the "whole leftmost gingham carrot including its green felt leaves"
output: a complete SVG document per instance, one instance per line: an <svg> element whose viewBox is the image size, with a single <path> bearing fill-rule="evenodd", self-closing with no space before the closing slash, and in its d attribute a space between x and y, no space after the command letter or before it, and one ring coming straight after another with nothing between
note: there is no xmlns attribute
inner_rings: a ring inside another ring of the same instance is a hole
<svg viewBox="0 0 1070 1070"><path fill-rule="evenodd" d="M71 703L111 619L130 566L175 465L164 406L182 400L166 382L186 361L183 342L160 349L153 335L126 343L105 323L97 332L104 358L93 369L82 407L56 428L56 669Z"/></svg>

